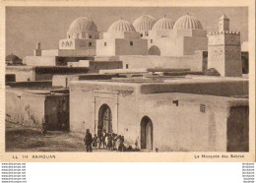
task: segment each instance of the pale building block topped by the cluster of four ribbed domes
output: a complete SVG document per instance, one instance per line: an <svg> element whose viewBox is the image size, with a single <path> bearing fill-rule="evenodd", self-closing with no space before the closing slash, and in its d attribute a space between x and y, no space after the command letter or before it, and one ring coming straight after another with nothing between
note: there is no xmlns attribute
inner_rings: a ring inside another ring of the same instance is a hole
<svg viewBox="0 0 256 183"><path fill-rule="evenodd" d="M97 40L95 60L122 61L126 69L207 69L207 32L195 17L183 16L174 25L166 17L155 23L153 17L142 16L133 25L124 20L113 23Z"/></svg>

